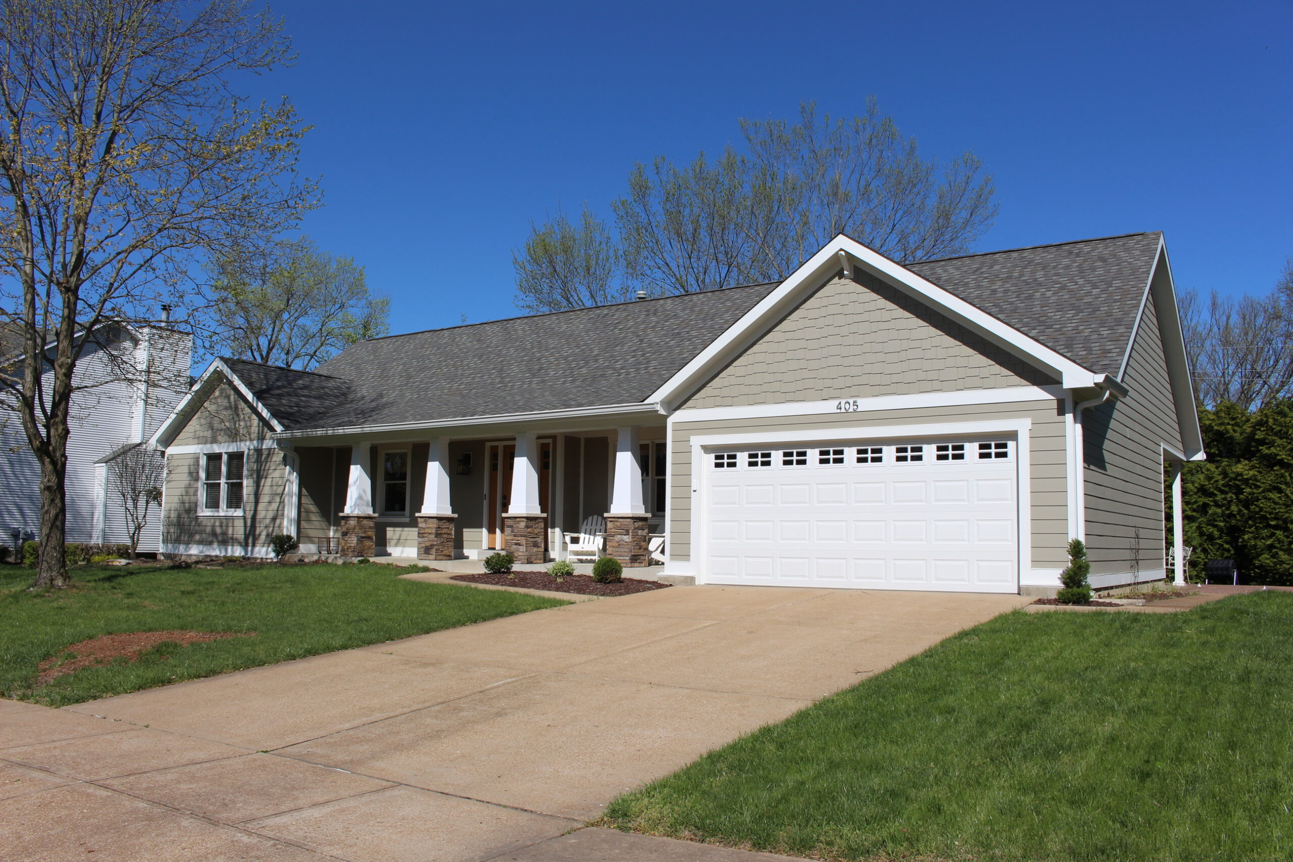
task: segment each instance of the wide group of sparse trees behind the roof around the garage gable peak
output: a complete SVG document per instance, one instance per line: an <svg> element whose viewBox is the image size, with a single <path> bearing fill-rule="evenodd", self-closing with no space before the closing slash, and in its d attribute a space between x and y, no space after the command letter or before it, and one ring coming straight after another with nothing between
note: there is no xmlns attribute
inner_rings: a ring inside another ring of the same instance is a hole
<svg viewBox="0 0 1293 862"><path fill-rule="evenodd" d="M808 102L794 123L741 120L741 133L743 151L635 165L628 194L612 203L618 246L560 215L534 227L524 253L513 252L517 304L555 310L623 299L632 287L662 296L777 280L840 233L904 262L959 255L997 216L992 176L972 152L940 169L874 98L860 116L834 119ZM583 221L600 225L587 209ZM561 235L572 242L535 243ZM621 283L599 265L597 291L534 289L531 273L584 271L588 248L593 260L622 260Z"/></svg>

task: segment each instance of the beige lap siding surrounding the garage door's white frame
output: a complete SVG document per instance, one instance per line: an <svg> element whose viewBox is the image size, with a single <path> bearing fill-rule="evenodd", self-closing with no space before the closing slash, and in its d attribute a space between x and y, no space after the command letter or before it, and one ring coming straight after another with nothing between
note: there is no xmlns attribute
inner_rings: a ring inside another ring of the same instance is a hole
<svg viewBox="0 0 1293 862"><path fill-rule="evenodd" d="M685 416L685 411L678 416ZM833 429L840 428L981 423L1007 419L1032 420L1032 430L1029 432L1032 565L1034 569L1062 567L1065 563L1064 549L1068 544L1068 492L1064 415L1063 406L1055 401L768 419L724 419L700 423L675 421L672 425L674 445L670 454L670 470L672 472L670 479L670 557L690 560L692 499L698 496L692 494L690 438L693 436L821 430L822 438L829 439ZM1027 565L1027 561L1021 562L1021 566Z"/></svg>

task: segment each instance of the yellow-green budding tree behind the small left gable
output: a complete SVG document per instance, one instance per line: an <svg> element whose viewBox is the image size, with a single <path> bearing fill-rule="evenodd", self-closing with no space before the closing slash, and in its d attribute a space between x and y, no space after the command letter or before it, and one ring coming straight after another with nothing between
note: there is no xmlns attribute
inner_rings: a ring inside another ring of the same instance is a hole
<svg viewBox="0 0 1293 862"><path fill-rule="evenodd" d="M363 268L301 237L213 265L212 346L240 359L310 370L361 339L385 335L390 301Z"/></svg>

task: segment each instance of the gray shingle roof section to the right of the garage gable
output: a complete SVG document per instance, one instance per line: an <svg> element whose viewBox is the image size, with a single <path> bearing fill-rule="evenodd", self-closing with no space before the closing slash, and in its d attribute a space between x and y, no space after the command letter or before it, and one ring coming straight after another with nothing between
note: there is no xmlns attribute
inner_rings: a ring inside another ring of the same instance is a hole
<svg viewBox="0 0 1293 862"><path fill-rule="evenodd" d="M1125 234L908 269L1080 366L1117 375L1161 238Z"/></svg>

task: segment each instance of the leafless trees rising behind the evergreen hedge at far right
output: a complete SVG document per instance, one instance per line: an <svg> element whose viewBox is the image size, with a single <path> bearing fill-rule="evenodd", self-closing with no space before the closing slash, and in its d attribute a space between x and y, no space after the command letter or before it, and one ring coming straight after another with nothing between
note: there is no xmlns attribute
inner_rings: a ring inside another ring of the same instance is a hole
<svg viewBox="0 0 1293 862"><path fill-rule="evenodd" d="M1182 295L1196 397L1244 410L1293 392L1293 261L1267 296Z"/></svg>

